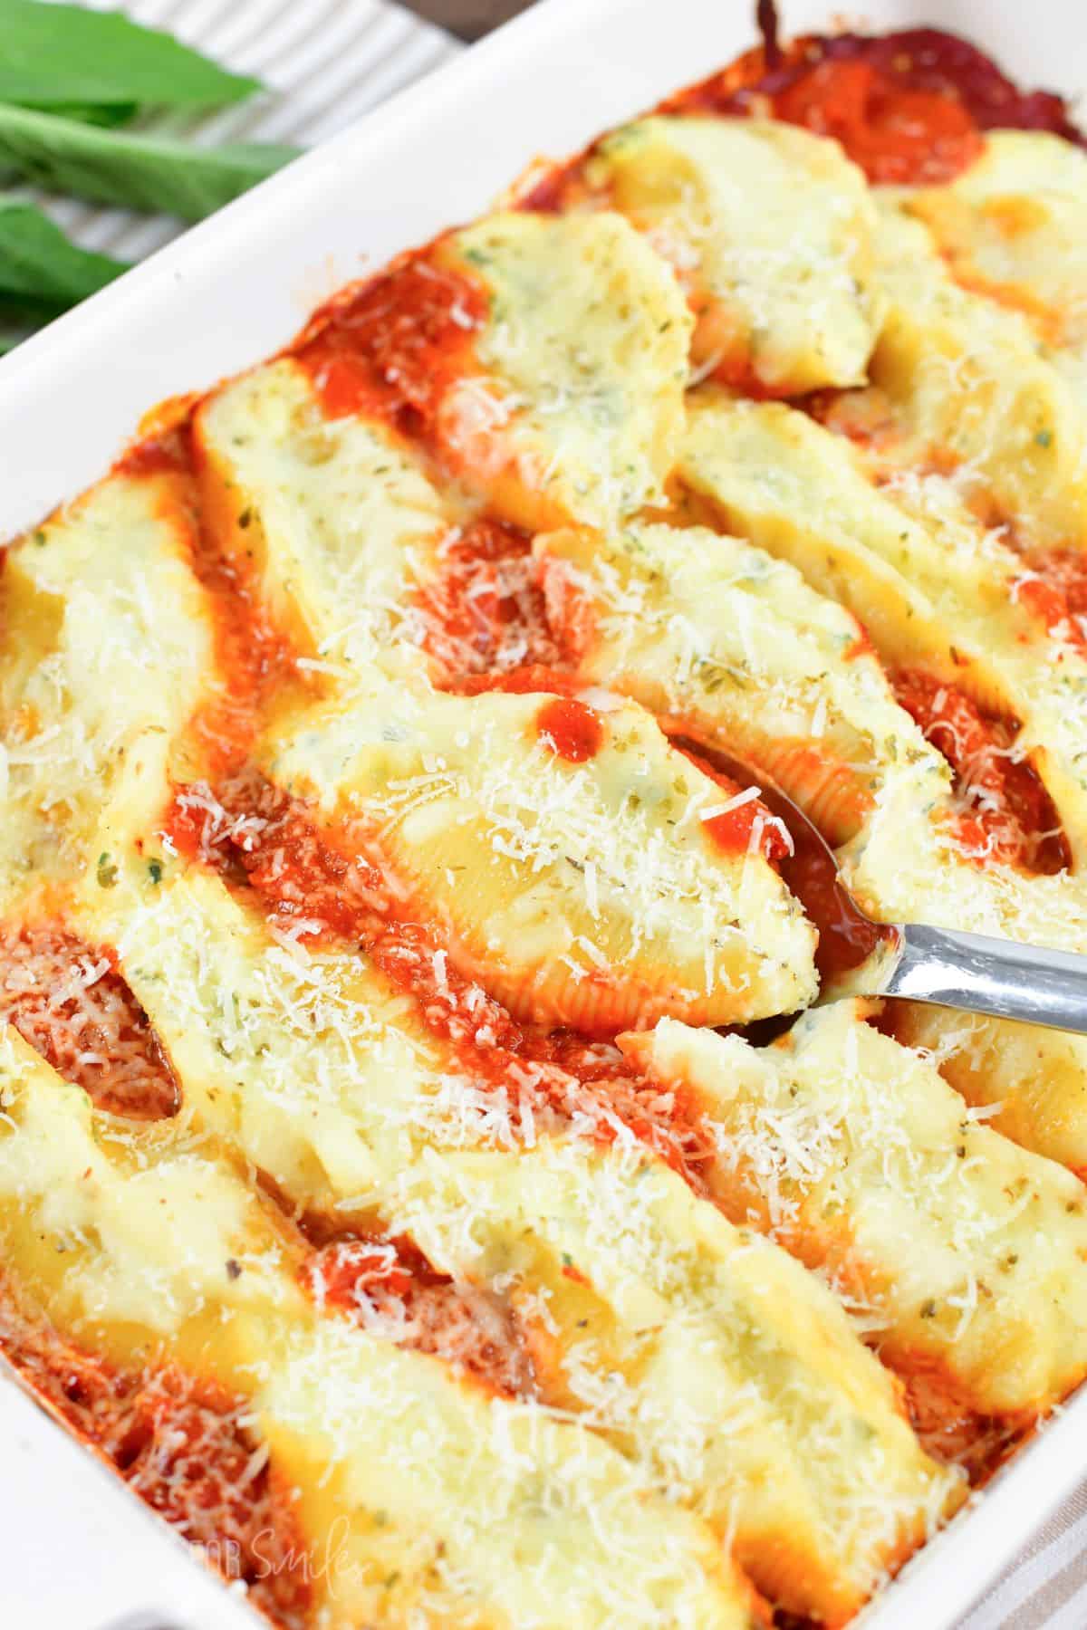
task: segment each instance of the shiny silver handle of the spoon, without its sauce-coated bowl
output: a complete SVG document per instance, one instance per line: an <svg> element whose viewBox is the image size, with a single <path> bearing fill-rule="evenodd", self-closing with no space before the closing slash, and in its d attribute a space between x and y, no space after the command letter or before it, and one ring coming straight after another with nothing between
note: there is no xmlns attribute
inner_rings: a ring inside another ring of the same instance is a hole
<svg viewBox="0 0 1087 1630"><path fill-rule="evenodd" d="M1087 1035L1087 957L909 923L874 996L909 996Z"/></svg>

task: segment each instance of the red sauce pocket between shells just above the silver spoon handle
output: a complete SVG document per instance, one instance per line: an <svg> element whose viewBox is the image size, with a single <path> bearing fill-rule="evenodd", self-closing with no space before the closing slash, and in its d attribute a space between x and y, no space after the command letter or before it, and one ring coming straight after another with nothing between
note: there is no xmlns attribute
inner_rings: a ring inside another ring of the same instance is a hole
<svg viewBox="0 0 1087 1630"><path fill-rule="evenodd" d="M989 861L1030 872L1071 864L1058 813L1038 773L1012 756L1017 725L981 712L953 685L922 670L893 675L895 694L955 773L955 835L978 866Z"/></svg>

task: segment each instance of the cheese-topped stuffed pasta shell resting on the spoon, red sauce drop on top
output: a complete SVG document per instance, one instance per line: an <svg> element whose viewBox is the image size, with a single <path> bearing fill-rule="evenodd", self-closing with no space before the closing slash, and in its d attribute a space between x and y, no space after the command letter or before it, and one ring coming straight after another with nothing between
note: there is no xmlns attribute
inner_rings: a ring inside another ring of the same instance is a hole
<svg viewBox="0 0 1087 1630"><path fill-rule="evenodd" d="M546 734L548 704L334 703L269 738L267 769L362 820L455 960L517 1014L601 1030L805 1001L812 929L761 854L707 836L720 789L632 704L595 716L600 748L572 763Z"/></svg>

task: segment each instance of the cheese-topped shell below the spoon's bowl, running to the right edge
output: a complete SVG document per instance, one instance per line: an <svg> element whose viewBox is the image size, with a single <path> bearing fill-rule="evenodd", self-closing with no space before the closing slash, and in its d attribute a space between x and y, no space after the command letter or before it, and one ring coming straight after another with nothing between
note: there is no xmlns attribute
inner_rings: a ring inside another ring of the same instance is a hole
<svg viewBox="0 0 1087 1630"><path fill-rule="evenodd" d="M1035 1413L1082 1379L1087 1190L857 1004L763 1051L673 1020L624 1046L696 1094L725 1208L825 1270L903 1372L939 1363L979 1413Z"/></svg>

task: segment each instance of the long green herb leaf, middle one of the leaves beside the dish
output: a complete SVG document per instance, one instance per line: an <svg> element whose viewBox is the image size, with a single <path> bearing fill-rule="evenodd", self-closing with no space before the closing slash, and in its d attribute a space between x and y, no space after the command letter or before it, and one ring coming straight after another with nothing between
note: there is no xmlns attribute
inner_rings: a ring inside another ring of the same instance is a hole
<svg viewBox="0 0 1087 1630"><path fill-rule="evenodd" d="M295 156L293 147L192 147L0 106L0 170L13 170L47 192L184 220L202 220Z"/></svg>

